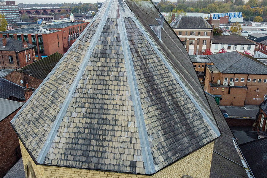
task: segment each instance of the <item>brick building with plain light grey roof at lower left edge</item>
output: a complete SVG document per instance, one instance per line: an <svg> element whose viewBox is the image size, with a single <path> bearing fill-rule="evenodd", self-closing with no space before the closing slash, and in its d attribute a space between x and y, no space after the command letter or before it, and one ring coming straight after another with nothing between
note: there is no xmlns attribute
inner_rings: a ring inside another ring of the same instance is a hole
<svg viewBox="0 0 267 178"><path fill-rule="evenodd" d="M21 158L18 136L10 125L24 103L0 98L0 177Z"/></svg>

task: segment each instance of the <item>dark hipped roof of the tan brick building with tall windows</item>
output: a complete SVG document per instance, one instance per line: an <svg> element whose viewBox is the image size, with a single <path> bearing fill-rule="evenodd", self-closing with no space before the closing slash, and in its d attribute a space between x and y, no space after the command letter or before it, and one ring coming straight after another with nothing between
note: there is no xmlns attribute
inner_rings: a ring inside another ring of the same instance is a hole
<svg viewBox="0 0 267 178"><path fill-rule="evenodd" d="M176 19L176 25L170 23L172 28L212 28L201 16L181 16Z"/></svg>

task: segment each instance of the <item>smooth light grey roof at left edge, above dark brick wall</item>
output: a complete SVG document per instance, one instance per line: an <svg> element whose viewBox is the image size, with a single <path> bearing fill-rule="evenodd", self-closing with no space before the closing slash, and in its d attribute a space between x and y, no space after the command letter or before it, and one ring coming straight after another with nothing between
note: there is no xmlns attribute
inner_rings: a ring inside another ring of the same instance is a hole
<svg viewBox="0 0 267 178"><path fill-rule="evenodd" d="M0 98L0 121L6 118L8 115L12 114L23 104L24 103L21 102Z"/></svg>

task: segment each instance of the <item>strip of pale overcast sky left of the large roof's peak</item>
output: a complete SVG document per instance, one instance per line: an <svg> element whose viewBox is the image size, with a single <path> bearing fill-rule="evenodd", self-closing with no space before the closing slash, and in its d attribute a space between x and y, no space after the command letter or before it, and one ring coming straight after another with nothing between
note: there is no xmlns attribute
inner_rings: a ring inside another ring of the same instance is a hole
<svg viewBox="0 0 267 178"><path fill-rule="evenodd" d="M15 0L18 3L24 3L24 4L46 4L46 3L79 3L80 1L82 1L82 3L95 3L95 2L104 2L105 0L45 0L45 1L36 1L36 0Z"/></svg>

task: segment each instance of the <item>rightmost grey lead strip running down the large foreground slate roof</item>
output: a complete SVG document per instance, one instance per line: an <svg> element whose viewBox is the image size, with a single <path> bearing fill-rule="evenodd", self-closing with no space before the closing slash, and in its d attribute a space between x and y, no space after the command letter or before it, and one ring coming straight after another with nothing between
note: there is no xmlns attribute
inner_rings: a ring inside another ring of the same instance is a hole
<svg viewBox="0 0 267 178"><path fill-rule="evenodd" d="M139 27L139 30L143 33L143 35L146 37L147 41L150 43L151 47L156 51L156 53L159 55L159 57L162 59L163 63L165 64L165 66L169 69L169 71L171 72L171 74L174 76L174 78L176 79L176 81L178 82L178 84L182 87L182 89L184 90L184 92L187 94L187 96L190 98L190 100L193 102L193 104L195 104L196 108L198 109L198 111L202 114L203 118L206 120L206 122L210 125L210 127L212 128L212 130L214 131L214 133L217 136L220 136L220 131L219 129L216 127L216 123L213 123L212 120L208 117L208 115L206 114L206 112L204 111L204 109L199 105L198 101L196 101L195 97L193 96L193 94L188 90L188 88L186 87L186 85L182 82L181 77L175 72L175 70L173 69L173 67L171 66L171 64L169 63L169 61L167 61L167 59L165 58L165 56L161 53L161 51L158 49L158 47L155 45L155 43L152 41L152 39L150 38L150 36L147 34L147 32L144 30L144 28L142 27L142 25L139 23L139 21L137 20L137 18L132 18L134 20L134 22L136 23L136 25Z"/></svg>

